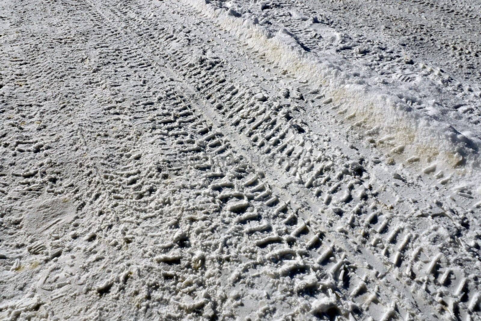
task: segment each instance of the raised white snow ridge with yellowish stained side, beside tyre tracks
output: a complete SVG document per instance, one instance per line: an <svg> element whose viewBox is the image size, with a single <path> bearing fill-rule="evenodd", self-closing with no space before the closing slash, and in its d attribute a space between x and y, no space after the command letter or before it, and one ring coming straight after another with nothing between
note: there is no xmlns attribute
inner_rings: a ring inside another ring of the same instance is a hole
<svg viewBox="0 0 481 321"><path fill-rule="evenodd" d="M435 112L428 115L414 109L400 97L386 94L387 89L381 84L370 86L362 78L352 77L349 71L354 67L350 63L328 57L321 60L304 51L288 30L267 30L257 24L257 17L229 7L229 2L188 3L245 41L249 50L264 53L279 72L307 79L311 87L326 97L315 108L337 110L344 121L353 125L353 130L364 134L368 141L376 141L392 157L403 153L407 163L423 162L425 172L469 174L472 183L481 181L481 140L473 133L459 132L452 124L436 120ZM362 73L370 77L365 70Z"/></svg>

